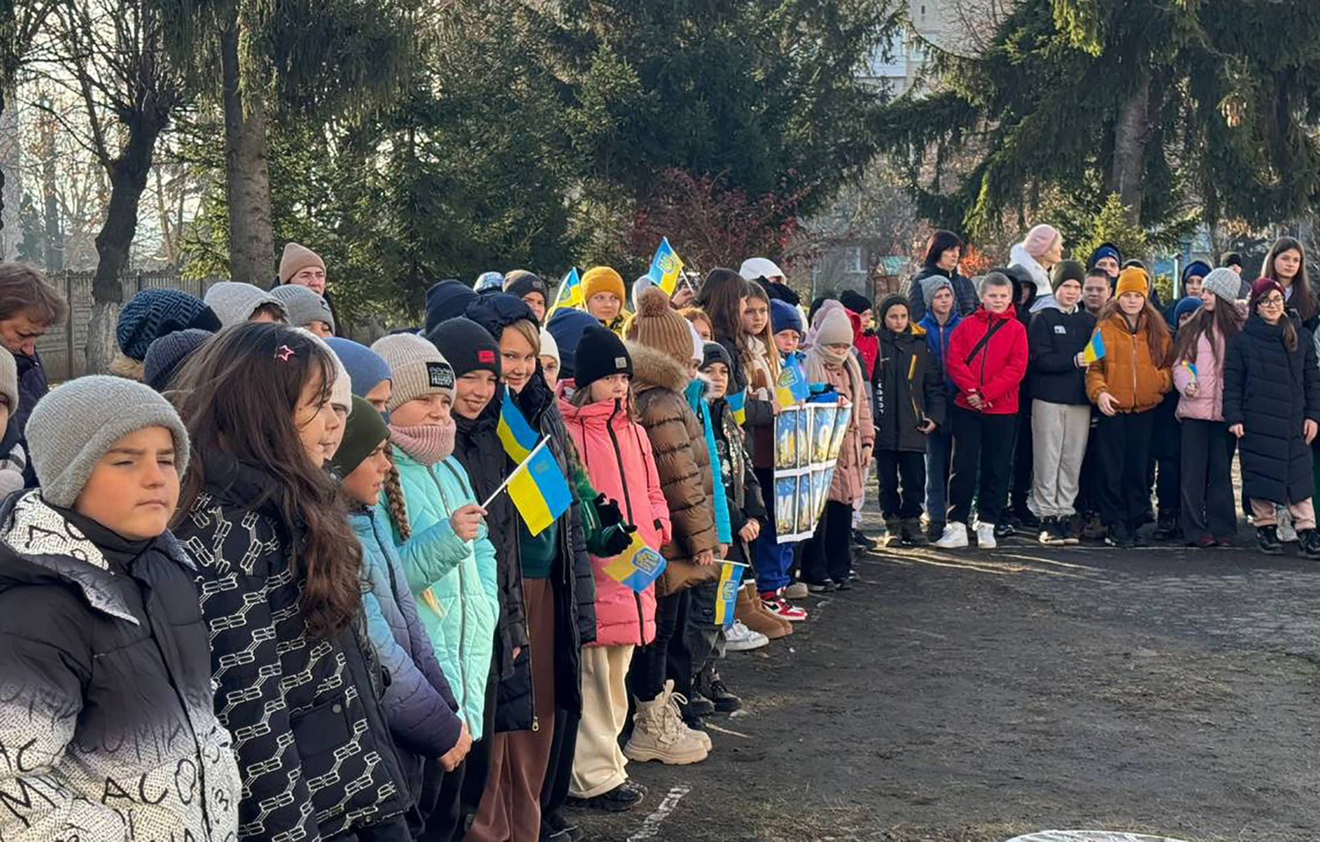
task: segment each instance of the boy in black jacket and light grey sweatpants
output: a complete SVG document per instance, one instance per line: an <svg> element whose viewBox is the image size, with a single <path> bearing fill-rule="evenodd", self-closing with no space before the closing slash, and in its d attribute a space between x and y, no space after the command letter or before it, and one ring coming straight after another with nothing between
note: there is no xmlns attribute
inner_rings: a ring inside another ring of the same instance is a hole
<svg viewBox="0 0 1320 842"><path fill-rule="evenodd" d="M1040 519L1041 544L1076 544L1076 515L1081 463L1090 438L1086 400L1086 360L1082 354L1096 319L1078 305L1082 265L1055 265L1055 297L1031 317L1027 327L1027 376L1031 383L1034 442L1031 511Z"/></svg>

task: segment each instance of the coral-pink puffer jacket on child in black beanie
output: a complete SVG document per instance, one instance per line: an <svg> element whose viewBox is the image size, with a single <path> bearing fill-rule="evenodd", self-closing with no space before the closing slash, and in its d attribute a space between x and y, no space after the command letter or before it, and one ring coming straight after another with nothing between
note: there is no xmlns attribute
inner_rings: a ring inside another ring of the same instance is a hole
<svg viewBox="0 0 1320 842"><path fill-rule="evenodd" d="M561 400L560 413L591 487L619 504L624 520L636 525L647 546L664 546L671 538L669 507L645 430L614 401L574 406ZM645 645L656 636L655 585L640 594L620 585L605 571L611 561L591 556L595 643L587 645Z"/></svg>

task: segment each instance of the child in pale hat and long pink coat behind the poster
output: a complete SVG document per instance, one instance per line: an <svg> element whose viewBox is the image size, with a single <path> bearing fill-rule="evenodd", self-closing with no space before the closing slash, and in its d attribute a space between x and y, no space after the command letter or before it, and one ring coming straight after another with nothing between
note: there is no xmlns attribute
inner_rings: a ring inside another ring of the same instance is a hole
<svg viewBox="0 0 1320 842"><path fill-rule="evenodd" d="M843 305L825 302L812 321L813 343L807 351L807 379L824 383L850 406L843 446L834 466L825 511L803 549L803 579L814 591L851 589L853 502L862 494L863 466L871 461L875 422L862 367L853 354L853 323ZM828 581L828 582L826 582Z"/></svg>

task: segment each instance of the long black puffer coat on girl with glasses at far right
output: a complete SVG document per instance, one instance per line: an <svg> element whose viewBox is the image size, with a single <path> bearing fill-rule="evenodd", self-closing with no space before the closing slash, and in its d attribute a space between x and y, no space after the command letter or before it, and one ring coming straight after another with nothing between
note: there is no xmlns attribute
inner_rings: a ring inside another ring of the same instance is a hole
<svg viewBox="0 0 1320 842"><path fill-rule="evenodd" d="M1311 331L1295 318L1294 326L1298 347L1288 351L1283 329L1253 314L1224 352L1224 422L1246 433L1242 487L1249 498L1274 503L1315 492L1302 424L1320 421L1320 372Z"/></svg>

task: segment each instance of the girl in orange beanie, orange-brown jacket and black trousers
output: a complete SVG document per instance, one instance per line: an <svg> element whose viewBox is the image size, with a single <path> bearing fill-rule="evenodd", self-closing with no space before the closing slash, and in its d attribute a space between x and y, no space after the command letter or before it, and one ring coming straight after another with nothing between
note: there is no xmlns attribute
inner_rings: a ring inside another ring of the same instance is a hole
<svg viewBox="0 0 1320 842"><path fill-rule="evenodd" d="M1105 355L1086 370L1086 397L1100 408L1100 516L1110 546L1133 546L1150 505L1146 480L1155 408L1172 385L1168 326L1147 298L1146 271L1118 275L1114 300L1096 333Z"/></svg>

